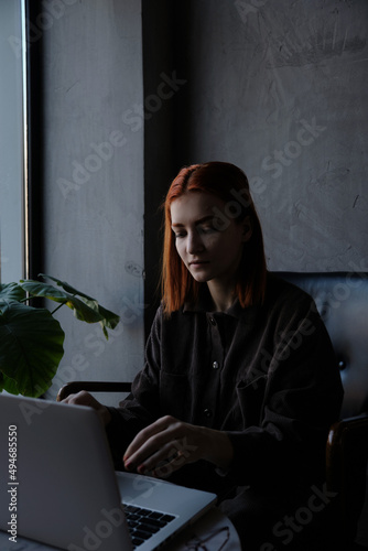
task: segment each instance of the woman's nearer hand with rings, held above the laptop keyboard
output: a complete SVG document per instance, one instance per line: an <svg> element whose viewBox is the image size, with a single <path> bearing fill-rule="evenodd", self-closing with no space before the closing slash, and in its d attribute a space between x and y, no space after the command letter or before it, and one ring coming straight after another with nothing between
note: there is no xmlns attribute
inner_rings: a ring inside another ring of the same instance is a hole
<svg viewBox="0 0 368 551"><path fill-rule="evenodd" d="M184 423L166 415L140 431L125 456L127 471L164 478L186 463L207 460L227 468L232 444L225 432Z"/></svg>

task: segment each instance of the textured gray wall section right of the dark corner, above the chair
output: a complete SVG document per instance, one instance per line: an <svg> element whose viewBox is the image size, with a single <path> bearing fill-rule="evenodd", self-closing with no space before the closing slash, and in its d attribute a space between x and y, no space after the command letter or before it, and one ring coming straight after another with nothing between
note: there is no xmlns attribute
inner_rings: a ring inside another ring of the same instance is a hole
<svg viewBox="0 0 368 551"><path fill-rule="evenodd" d="M184 20L177 164L246 171L270 269L367 270L368 2L196 0Z"/></svg>

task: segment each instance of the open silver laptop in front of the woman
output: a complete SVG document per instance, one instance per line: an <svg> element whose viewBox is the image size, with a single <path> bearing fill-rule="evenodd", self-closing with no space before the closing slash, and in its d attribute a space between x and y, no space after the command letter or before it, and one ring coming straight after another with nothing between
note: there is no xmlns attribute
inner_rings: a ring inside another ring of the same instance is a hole
<svg viewBox="0 0 368 551"><path fill-rule="evenodd" d="M0 529L10 541L152 551L216 501L215 494L115 472L91 408L0 395Z"/></svg>

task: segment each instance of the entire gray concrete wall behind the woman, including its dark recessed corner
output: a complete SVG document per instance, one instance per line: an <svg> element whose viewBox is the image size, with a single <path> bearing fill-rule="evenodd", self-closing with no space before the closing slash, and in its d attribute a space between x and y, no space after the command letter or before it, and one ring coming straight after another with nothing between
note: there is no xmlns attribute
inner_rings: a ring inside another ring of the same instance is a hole
<svg viewBox="0 0 368 551"><path fill-rule="evenodd" d="M61 312L57 383L142 366L183 164L246 171L270 269L368 269L367 20L365 0L65 2L42 33L45 272L123 321L107 344Z"/></svg>

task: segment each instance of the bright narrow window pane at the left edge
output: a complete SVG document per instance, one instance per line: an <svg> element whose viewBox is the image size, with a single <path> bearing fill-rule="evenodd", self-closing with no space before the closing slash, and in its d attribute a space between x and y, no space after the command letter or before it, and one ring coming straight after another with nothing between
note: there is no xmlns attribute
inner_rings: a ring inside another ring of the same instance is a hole
<svg viewBox="0 0 368 551"><path fill-rule="evenodd" d="M0 2L0 282L28 277L24 0Z"/></svg>

